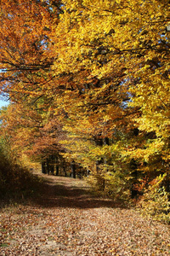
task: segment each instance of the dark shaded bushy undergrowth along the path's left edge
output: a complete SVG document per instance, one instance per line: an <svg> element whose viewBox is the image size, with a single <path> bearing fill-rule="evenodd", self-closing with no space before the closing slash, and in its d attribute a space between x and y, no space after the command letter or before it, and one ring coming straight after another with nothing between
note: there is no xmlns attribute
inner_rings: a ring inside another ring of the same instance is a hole
<svg viewBox="0 0 170 256"><path fill-rule="evenodd" d="M41 193L43 180L0 152L0 205L20 203Z"/></svg>

